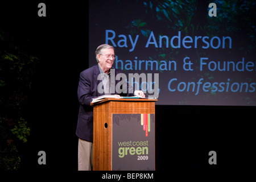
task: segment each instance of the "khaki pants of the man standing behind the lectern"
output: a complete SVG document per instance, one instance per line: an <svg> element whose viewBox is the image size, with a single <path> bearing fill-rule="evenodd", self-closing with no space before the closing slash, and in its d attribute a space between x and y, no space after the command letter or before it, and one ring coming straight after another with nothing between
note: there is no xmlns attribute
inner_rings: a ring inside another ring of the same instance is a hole
<svg viewBox="0 0 256 182"><path fill-rule="evenodd" d="M78 169L91 171L93 163L93 143L79 138Z"/></svg>

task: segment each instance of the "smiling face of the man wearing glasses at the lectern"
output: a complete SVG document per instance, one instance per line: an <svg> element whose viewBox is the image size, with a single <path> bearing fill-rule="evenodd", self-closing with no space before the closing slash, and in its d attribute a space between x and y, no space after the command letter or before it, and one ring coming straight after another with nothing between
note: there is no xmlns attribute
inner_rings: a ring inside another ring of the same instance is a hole
<svg viewBox="0 0 256 182"><path fill-rule="evenodd" d="M115 52L112 48L102 49L101 54L97 55L99 61L98 64L100 64L102 71L104 71L105 73L108 73L109 69L112 68L112 65L114 63L114 55Z"/></svg>

